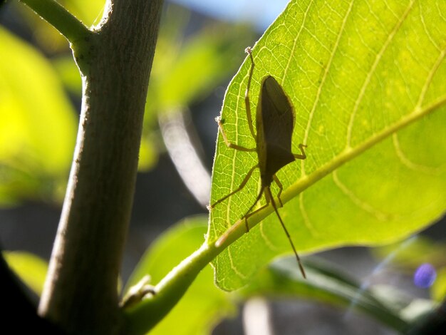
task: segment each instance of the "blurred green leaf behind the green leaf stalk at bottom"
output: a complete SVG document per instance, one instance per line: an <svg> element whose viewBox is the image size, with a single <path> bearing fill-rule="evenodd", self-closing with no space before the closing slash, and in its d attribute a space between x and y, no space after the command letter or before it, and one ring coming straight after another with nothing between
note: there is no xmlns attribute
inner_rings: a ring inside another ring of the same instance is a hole
<svg viewBox="0 0 446 335"><path fill-rule="evenodd" d="M202 244L206 224L205 217L194 217L165 232L142 257L126 285L126 290L146 274L150 275L152 283L159 282ZM233 314L234 304L229 301L228 294L214 286L212 277L212 269L207 265L185 296L150 334L210 334L212 326L219 319ZM141 320L143 322L145 321Z"/></svg>

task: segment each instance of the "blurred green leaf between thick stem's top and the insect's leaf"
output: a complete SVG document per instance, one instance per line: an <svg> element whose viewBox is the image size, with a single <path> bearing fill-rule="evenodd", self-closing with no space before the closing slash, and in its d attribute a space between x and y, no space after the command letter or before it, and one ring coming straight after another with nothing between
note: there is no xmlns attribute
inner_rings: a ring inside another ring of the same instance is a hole
<svg viewBox="0 0 446 335"><path fill-rule="evenodd" d="M242 59L237 51L246 45L249 33L242 27L207 25L187 38L177 53L177 41L166 35L162 34L157 43L147 97L156 101L155 108L162 112L190 105L227 78ZM169 54L172 56L166 57Z"/></svg>

